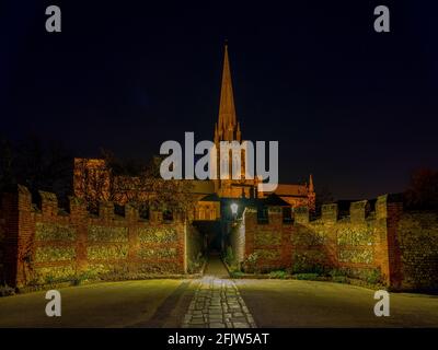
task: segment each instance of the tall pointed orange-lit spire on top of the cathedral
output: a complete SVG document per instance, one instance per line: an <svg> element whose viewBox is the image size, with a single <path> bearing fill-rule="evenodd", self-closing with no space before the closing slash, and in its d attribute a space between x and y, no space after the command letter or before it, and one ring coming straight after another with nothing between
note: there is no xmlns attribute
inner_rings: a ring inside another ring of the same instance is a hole
<svg viewBox="0 0 438 350"><path fill-rule="evenodd" d="M228 59L228 44L226 43L224 57L223 57L222 85L220 90L218 128L220 131L222 131L223 139L227 141L231 141L235 137L233 135L235 127L237 127L237 117L234 108L234 97L233 97L232 82L231 82L230 61Z"/></svg>

